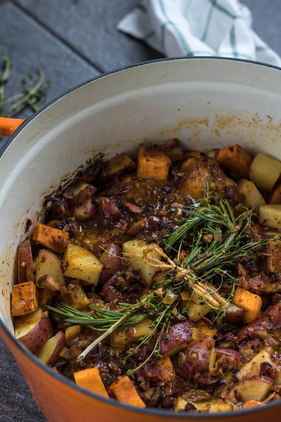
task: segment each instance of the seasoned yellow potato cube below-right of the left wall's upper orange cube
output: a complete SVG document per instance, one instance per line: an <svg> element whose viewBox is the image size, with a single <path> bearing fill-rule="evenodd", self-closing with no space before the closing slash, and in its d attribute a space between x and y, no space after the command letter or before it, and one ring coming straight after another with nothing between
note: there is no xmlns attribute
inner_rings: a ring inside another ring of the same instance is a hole
<svg viewBox="0 0 281 422"><path fill-rule="evenodd" d="M96 255L85 248L68 243L63 254L64 275L97 285L103 265Z"/></svg>

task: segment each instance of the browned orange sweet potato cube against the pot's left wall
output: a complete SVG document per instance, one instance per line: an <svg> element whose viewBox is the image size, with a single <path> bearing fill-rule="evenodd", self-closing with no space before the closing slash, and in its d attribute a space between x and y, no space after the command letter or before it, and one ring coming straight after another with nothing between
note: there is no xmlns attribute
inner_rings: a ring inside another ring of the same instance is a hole
<svg viewBox="0 0 281 422"><path fill-rule="evenodd" d="M38 293L33 281L14 284L12 292L11 315L28 315L38 309Z"/></svg>

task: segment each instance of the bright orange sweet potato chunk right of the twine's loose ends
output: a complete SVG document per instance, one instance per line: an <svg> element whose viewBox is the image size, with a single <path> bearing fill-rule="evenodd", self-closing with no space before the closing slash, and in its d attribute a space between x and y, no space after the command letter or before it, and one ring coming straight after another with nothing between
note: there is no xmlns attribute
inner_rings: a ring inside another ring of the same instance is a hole
<svg viewBox="0 0 281 422"><path fill-rule="evenodd" d="M248 324L254 321L260 314L262 307L262 298L244 288L238 287L232 303L244 309L243 321Z"/></svg>

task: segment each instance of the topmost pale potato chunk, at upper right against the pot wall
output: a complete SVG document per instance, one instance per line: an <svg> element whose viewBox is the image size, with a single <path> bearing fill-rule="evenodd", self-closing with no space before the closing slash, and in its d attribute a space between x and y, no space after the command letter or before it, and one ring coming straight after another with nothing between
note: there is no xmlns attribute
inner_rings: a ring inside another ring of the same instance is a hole
<svg viewBox="0 0 281 422"><path fill-rule="evenodd" d="M281 162L265 154L256 154L249 172L249 179L257 189L271 191L279 179L281 173Z"/></svg>

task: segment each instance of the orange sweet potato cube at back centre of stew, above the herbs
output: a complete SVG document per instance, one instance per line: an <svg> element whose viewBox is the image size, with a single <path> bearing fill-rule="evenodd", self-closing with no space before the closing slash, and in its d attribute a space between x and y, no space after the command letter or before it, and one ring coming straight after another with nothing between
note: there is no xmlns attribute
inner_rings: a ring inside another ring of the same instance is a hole
<svg viewBox="0 0 281 422"><path fill-rule="evenodd" d="M159 148L139 146L137 177L146 180L167 180L171 160Z"/></svg>

